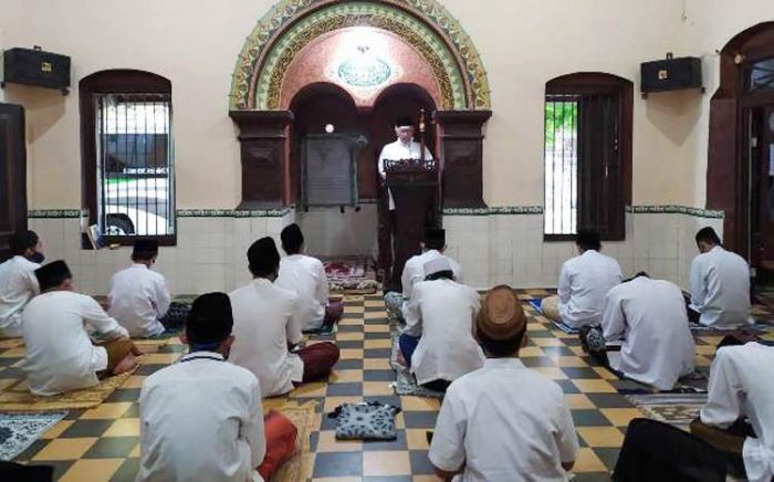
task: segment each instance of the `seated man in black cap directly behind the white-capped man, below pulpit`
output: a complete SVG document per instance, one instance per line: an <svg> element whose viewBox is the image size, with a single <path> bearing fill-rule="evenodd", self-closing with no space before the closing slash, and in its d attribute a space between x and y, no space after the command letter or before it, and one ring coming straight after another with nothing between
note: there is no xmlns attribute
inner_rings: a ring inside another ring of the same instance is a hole
<svg viewBox="0 0 774 482"><path fill-rule="evenodd" d="M406 261L400 284L402 293L389 292L385 295L385 304L399 319L406 318L408 301L411 300L414 285L425 280L425 263L428 261L444 258L451 265L454 280L462 283L462 268L449 256L443 255L446 251L446 231L442 229L428 228L425 230L425 241L421 244L422 253L414 255Z"/></svg>

